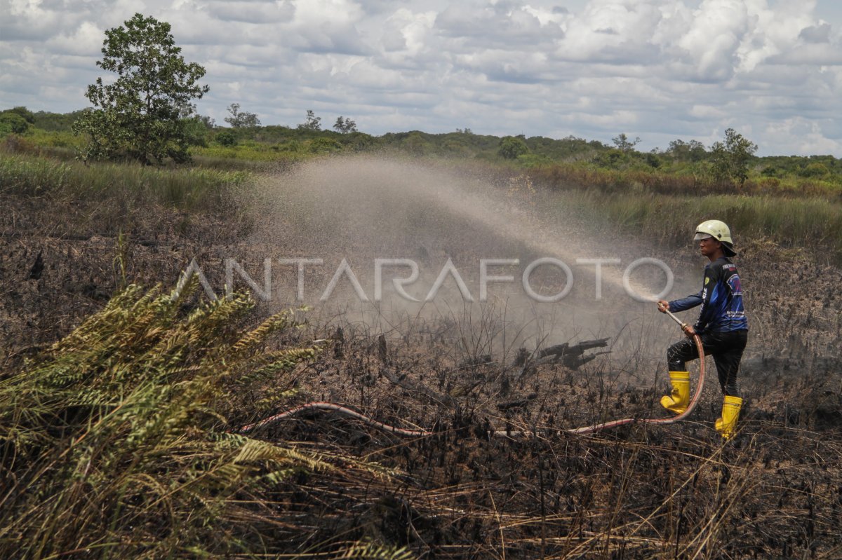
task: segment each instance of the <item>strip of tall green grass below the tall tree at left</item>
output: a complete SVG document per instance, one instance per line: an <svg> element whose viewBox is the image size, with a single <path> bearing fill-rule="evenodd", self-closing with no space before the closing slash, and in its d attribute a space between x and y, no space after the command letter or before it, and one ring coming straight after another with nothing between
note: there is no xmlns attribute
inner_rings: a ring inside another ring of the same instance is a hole
<svg viewBox="0 0 842 560"><path fill-rule="evenodd" d="M152 199L182 209L227 198L253 177L244 171L166 168L130 163L56 161L0 151L0 195Z"/></svg>

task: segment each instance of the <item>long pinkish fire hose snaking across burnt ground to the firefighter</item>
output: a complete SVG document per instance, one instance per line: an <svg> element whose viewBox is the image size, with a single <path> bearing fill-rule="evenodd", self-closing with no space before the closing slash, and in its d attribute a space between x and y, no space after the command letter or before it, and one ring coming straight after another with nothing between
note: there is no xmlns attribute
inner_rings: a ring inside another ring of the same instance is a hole
<svg viewBox="0 0 842 560"><path fill-rule="evenodd" d="M663 313L668 314L669 317L674 320L676 323L679 324L681 330L685 330L687 326L684 322L679 320L674 314L670 313L669 309L664 309L659 306L659 309L663 311ZM581 428L571 428L567 431L571 434L577 435L587 435L593 434L598 431L603 430L610 430L611 428L616 428L621 425L626 424L674 424L680 420L684 420L687 418L690 413L693 412L695 409L696 403L699 401L699 397L701 396L701 389L705 385L705 351L701 346L701 338L699 335L693 334L693 341L695 342L696 350L699 352L699 383L696 384L695 394L690 399L690 404L687 405L687 409L679 415L670 417L670 418L623 418L621 420L611 420L610 422L602 422L600 424L588 425L583 426ZM347 406L343 406L342 404L336 403L328 403L328 402L311 402L306 404L301 404L291 409L287 409L280 414L269 416L269 418L265 418L264 420L258 420L253 424L248 424L242 426L238 431L240 433L253 431L258 428L261 428L265 425L272 424L274 422L285 420L287 418L291 418L296 415L300 415L303 412L312 411L312 410L328 410L336 412L340 415L347 416L349 418L355 418L364 422L367 425L371 425L373 427L378 428L379 430L386 431L388 433L395 434L396 436L403 436L403 437L427 437L427 436L434 436L436 432L434 431L427 431L427 430L407 430L404 428L398 428L394 425L389 425L384 422L380 422L378 420L374 420L360 412L357 412L354 409L350 409ZM513 431L513 430L492 430L488 432L490 436L535 436L534 432L531 431Z"/></svg>

